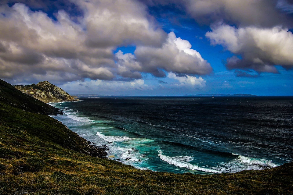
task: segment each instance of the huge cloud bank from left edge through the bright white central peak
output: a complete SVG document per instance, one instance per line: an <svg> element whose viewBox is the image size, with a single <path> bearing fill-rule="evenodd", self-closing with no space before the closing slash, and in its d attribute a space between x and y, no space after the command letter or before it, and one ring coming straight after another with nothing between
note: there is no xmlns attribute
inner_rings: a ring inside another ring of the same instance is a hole
<svg viewBox="0 0 293 195"><path fill-rule="evenodd" d="M141 73L164 77L171 71L199 75L212 71L188 41L158 27L141 2L70 3L82 14L72 16L60 9L52 18L22 3L0 5L1 78L15 83L40 78L65 83L87 78L141 79ZM30 5L49 6L40 4ZM113 53L128 45L136 46L134 54Z"/></svg>

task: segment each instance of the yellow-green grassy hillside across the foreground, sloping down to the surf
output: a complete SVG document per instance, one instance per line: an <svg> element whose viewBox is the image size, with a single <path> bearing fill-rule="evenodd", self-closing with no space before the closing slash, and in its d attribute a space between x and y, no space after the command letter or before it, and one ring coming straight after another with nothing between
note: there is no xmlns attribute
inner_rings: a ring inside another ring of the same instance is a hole
<svg viewBox="0 0 293 195"><path fill-rule="evenodd" d="M293 193L293 163L233 174L174 174L95 157L104 152L55 119L0 99L0 194Z"/></svg>

